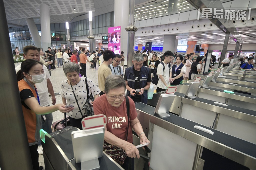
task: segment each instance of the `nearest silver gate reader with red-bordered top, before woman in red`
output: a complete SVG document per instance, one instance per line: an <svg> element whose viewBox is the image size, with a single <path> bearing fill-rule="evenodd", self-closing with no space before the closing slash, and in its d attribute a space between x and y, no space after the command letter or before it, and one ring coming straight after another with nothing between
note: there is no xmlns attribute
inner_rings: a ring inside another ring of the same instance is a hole
<svg viewBox="0 0 256 170"><path fill-rule="evenodd" d="M71 133L75 161L81 163L82 170L98 170L98 158L103 154L106 116L88 116L81 123L83 130Z"/></svg>

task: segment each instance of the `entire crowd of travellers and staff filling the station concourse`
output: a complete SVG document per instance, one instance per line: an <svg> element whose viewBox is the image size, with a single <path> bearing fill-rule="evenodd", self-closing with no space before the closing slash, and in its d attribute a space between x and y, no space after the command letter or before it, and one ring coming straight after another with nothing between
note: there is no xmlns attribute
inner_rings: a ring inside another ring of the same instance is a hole
<svg viewBox="0 0 256 170"><path fill-rule="evenodd" d="M20 52L16 48L17 54ZM172 51L164 53L141 54L136 52L132 59L132 67L124 70L124 52L115 54L111 50L89 51L48 48L35 46L23 48L23 61L16 69L20 99L27 130L27 138L33 168L39 167L38 154L42 154L39 130L52 133L52 112L59 110L69 116L71 126L82 129L81 120L88 116L88 108L93 108L95 115L104 114L108 117L123 119L120 125L115 121L108 121L105 129L105 144L122 149L126 153L124 160L118 163L125 169L129 161L134 167L134 158L139 158L138 149L133 145L132 128L141 139L141 144L150 143L146 138L142 126L137 119L134 102L147 104L147 91L155 81L156 91L165 91L169 85L180 84L181 81L191 79L191 74L202 71L204 56L180 55ZM221 61L222 65L231 63L233 56ZM241 58L243 69L251 68L254 62L252 57ZM215 63L215 56L211 62ZM98 63L98 86L87 77L87 62L90 69L95 71ZM212 64L211 64L212 65ZM63 68L67 79L62 81L59 95L62 103L56 103L54 89L50 80L51 71ZM50 94L50 97L49 97ZM50 101L51 99L51 101ZM66 107L73 105L73 107ZM127 115L127 105L130 114ZM125 117L125 118L124 118ZM104 145L105 147L105 145Z"/></svg>

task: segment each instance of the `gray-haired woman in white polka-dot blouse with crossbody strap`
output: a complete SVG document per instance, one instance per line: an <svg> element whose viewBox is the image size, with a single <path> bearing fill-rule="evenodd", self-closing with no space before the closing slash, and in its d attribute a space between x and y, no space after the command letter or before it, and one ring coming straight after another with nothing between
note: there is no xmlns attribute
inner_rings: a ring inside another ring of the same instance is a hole
<svg viewBox="0 0 256 170"><path fill-rule="evenodd" d="M79 77L80 67L73 62L67 62L63 66L63 71L67 76L67 80L61 82L60 95L62 97L62 103L65 105L73 105L74 110L68 112L71 126L82 129L81 120L84 116L87 116L87 110L84 108L84 104L89 103L92 105L92 96L94 99L99 97L100 89L86 77ZM88 92L87 93L87 87Z"/></svg>

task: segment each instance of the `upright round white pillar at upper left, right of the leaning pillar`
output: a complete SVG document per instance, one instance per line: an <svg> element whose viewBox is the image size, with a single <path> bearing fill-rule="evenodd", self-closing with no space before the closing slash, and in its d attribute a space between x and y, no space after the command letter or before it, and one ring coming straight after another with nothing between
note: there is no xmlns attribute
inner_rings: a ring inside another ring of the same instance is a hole
<svg viewBox="0 0 256 170"><path fill-rule="evenodd" d="M41 47L46 51L51 47L50 8L46 4L40 5Z"/></svg>

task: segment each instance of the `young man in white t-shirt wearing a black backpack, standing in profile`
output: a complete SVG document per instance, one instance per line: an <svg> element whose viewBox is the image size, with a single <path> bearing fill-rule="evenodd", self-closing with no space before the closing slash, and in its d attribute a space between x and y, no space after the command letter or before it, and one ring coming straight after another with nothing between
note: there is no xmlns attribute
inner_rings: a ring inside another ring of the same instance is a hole
<svg viewBox="0 0 256 170"><path fill-rule="evenodd" d="M169 66L168 66L168 64L172 60L173 60L172 51L165 51L164 61L159 63L156 70L155 70L157 78L158 78L157 88L156 88L157 93L160 92L160 91L165 91L166 86L169 85Z"/></svg>

